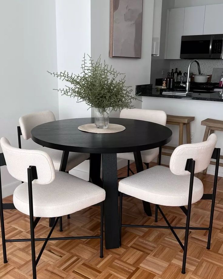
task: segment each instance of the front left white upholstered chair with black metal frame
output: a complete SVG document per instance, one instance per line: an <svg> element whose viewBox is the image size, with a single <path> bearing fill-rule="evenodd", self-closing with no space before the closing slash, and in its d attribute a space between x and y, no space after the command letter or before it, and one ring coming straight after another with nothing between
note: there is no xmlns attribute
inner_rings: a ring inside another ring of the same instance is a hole
<svg viewBox="0 0 223 279"><path fill-rule="evenodd" d="M6 138L1 138L3 153L0 166L6 165L8 172L18 180L24 181L14 191L13 204L2 203L0 180L0 217L4 263L7 263L6 242L31 241L33 278L36 278L36 265L48 240L100 238L100 257L103 257L103 201L105 190L66 172L55 171L51 157L42 150L24 150L12 147ZM3 155L4 154L4 155ZM1 173L0 173L1 174ZM1 177L1 176L0 176ZM96 203L101 205L101 231L98 236L50 238L61 216L74 213ZM5 240L3 209L18 209L30 216L30 239ZM34 220L34 216L36 217ZM46 238L37 258L35 257L34 229L42 217L55 217L56 221Z"/></svg>

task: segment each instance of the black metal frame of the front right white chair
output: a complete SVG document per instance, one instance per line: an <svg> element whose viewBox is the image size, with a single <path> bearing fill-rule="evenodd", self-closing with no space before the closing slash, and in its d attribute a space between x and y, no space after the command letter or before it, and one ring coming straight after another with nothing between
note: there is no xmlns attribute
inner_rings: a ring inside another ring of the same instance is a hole
<svg viewBox="0 0 223 279"><path fill-rule="evenodd" d="M176 238L177 242L180 244L181 248L184 251L183 255L183 263L182 263L182 274L186 273L186 260L187 260L187 249L188 249L188 237L189 237L189 230L208 230L208 244L207 249L210 249L211 245L211 233L212 233L212 226L213 226L213 218L214 218L214 209L215 209L215 198L216 198L216 190L217 190L217 183L218 183L218 168L219 168L219 160L220 160L220 148L215 148L214 152L211 156L211 159L216 160L215 166L215 178L214 178L214 187L212 194L203 194L201 200L211 200L211 216L210 216L210 223L209 227L190 227L190 217L191 217L191 203L192 203L192 193L193 193L193 183L194 183L194 168L195 168L195 161L193 159L188 159L186 162L185 170L188 170L190 174L190 186L189 186L189 196L188 196L188 208L185 206L181 206L181 210L187 216L186 226L185 227L177 227L171 226L167 218L165 217L163 211L161 210L159 205L155 205L155 222L158 219L158 210L160 211L162 217L164 218L167 226L155 226L155 225L130 225L130 224L122 224L122 198L123 193L120 193L120 206L119 206L119 227L120 227L120 246L121 246L121 231L122 227L137 227L137 228L160 228L160 229L170 229L173 233L174 237ZM184 238L184 245L177 236L175 230L185 230L185 238Z"/></svg>

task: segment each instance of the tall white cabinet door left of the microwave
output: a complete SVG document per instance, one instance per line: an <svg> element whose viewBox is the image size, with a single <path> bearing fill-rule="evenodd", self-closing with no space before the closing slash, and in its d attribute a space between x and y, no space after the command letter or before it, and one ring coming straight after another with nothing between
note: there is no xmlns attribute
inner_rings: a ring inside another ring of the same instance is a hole
<svg viewBox="0 0 223 279"><path fill-rule="evenodd" d="M169 10L167 59L180 59L181 37L184 28L184 10L185 8Z"/></svg>

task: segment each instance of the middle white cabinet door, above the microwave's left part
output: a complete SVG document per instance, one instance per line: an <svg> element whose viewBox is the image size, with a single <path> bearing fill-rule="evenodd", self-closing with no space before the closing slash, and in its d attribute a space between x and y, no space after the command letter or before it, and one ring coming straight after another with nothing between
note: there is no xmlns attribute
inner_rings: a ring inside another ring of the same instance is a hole
<svg viewBox="0 0 223 279"><path fill-rule="evenodd" d="M184 36L203 35L205 6L187 7L184 13Z"/></svg>

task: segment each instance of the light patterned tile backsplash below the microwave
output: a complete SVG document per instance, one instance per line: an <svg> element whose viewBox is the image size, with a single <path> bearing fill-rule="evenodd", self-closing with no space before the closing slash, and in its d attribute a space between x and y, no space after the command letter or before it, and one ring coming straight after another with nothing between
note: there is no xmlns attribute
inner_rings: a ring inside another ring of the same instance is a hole
<svg viewBox="0 0 223 279"><path fill-rule="evenodd" d="M191 59L192 60L192 59ZM188 71L188 65L191 61L189 59L179 59L179 60L171 60L170 68L175 69L177 68L178 71L181 70L181 72L187 72ZM213 68L223 68L223 59L198 59L201 65L201 73L205 75L211 75ZM191 72L194 74L198 74L198 66L196 63L193 63L191 65Z"/></svg>

